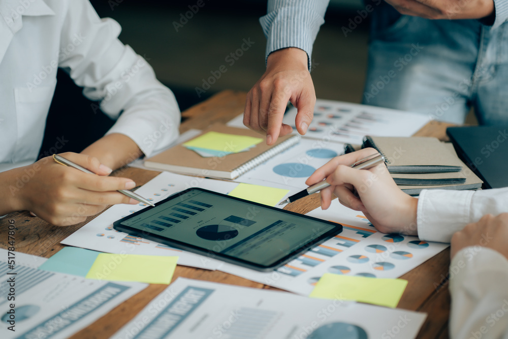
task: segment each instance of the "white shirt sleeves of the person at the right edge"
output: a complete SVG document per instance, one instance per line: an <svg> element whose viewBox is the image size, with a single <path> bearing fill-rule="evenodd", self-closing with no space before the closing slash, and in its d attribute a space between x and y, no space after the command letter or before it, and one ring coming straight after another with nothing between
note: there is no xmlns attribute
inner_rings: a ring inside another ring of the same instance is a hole
<svg viewBox="0 0 508 339"><path fill-rule="evenodd" d="M422 191L418 235L422 240L450 242L467 224L503 212L508 212L508 188ZM452 259L450 278L450 336L508 338L508 260L488 248L465 248Z"/></svg>

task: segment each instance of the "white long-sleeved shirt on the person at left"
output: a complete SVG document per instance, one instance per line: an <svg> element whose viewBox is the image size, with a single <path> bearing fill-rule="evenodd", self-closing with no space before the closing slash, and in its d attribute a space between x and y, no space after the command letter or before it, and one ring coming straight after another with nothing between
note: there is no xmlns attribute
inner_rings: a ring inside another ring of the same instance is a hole
<svg viewBox="0 0 508 339"><path fill-rule="evenodd" d="M60 67L146 156L178 136L180 111L152 68L87 0L0 0L0 172L37 160ZM72 111L69 112L72 114Z"/></svg>

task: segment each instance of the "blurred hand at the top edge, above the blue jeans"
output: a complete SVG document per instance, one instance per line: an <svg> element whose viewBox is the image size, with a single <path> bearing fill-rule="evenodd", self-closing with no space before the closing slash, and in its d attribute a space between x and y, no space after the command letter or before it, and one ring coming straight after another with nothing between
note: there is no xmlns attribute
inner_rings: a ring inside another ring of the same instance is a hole
<svg viewBox="0 0 508 339"><path fill-rule="evenodd" d="M481 19L494 13L493 0L386 0L401 14L426 19Z"/></svg>

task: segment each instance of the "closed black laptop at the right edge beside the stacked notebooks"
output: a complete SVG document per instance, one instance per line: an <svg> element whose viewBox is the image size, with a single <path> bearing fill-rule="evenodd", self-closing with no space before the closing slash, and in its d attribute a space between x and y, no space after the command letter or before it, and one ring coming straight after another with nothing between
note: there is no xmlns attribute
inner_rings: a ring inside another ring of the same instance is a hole
<svg viewBox="0 0 508 339"><path fill-rule="evenodd" d="M508 126L449 127L446 133L485 189L508 187Z"/></svg>

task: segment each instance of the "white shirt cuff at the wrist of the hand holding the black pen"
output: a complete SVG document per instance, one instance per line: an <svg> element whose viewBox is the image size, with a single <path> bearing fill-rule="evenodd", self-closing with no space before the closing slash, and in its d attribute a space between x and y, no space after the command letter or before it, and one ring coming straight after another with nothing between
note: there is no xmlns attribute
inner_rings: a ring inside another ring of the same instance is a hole
<svg viewBox="0 0 508 339"><path fill-rule="evenodd" d="M418 198L418 236L426 241L450 242L470 222L474 191L423 190Z"/></svg>

